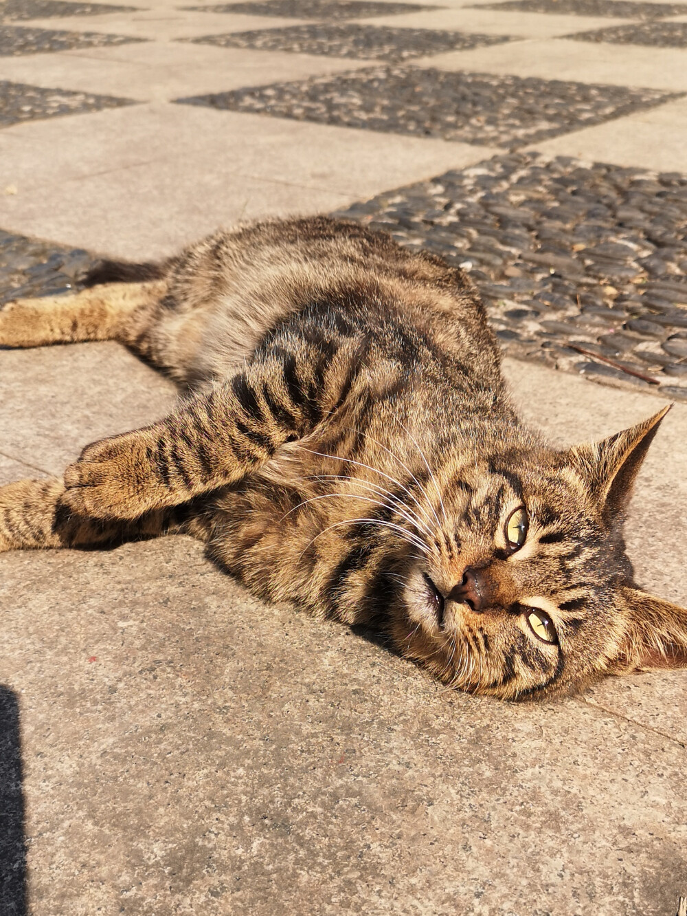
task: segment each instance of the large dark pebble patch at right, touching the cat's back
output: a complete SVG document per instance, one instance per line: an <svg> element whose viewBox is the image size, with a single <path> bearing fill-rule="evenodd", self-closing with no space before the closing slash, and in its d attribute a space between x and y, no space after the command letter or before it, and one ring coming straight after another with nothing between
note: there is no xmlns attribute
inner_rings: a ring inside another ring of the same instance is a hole
<svg viewBox="0 0 687 916"><path fill-rule="evenodd" d="M467 270L506 353L687 399L687 175L511 153L337 215Z"/></svg>

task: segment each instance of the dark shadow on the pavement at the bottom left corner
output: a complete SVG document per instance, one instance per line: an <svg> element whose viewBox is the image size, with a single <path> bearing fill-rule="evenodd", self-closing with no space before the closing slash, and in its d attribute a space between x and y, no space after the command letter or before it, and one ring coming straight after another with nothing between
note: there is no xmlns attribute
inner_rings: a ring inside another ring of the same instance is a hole
<svg viewBox="0 0 687 916"><path fill-rule="evenodd" d="M27 916L27 844L24 832L19 703L0 684L0 913Z"/></svg>

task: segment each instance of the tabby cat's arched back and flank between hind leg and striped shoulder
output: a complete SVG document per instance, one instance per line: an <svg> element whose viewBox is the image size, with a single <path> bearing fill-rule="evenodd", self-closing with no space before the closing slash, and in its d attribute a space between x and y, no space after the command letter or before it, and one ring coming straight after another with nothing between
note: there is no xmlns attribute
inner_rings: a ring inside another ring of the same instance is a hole
<svg viewBox="0 0 687 916"><path fill-rule="evenodd" d="M465 274L359 224L317 216L211 235L169 262L169 292L191 377L230 375L279 328L340 316L355 317L352 333L406 325L499 383L498 346Z"/></svg>

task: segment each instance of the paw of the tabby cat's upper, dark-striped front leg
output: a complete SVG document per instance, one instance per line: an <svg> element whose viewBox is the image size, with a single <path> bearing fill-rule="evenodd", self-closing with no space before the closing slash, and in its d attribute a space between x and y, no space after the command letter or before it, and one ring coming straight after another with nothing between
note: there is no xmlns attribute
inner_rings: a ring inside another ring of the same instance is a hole
<svg viewBox="0 0 687 916"><path fill-rule="evenodd" d="M62 503L85 518L139 518L164 495L150 479L145 439L127 432L87 445L64 473Z"/></svg>

